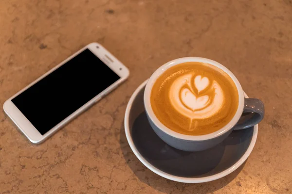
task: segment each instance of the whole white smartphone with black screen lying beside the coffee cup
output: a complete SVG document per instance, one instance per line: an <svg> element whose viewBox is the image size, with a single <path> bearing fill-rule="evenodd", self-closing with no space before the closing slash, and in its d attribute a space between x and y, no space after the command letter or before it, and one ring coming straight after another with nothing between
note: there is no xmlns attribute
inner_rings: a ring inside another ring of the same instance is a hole
<svg viewBox="0 0 292 194"><path fill-rule="evenodd" d="M91 43L10 97L3 109L38 144L128 76L125 65L100 44Z"/></svg>

